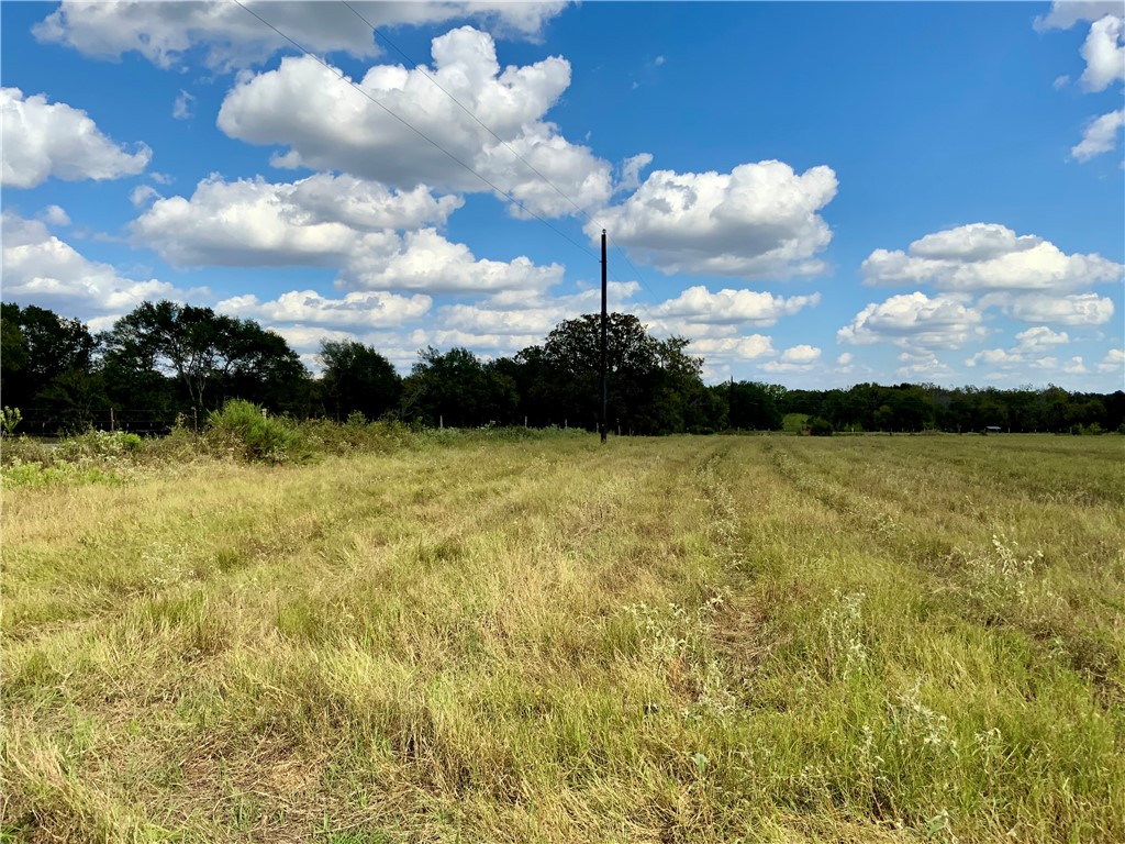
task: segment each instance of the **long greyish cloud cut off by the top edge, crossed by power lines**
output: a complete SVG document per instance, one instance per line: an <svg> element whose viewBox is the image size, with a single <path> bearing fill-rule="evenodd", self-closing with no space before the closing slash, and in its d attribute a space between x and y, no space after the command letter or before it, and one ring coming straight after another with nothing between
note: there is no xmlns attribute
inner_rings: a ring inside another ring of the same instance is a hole
<svg viewBox="0 0 1125 844"><path fill-rule="evenodd" d="M367 24L342 3L250 3L256 15L317 54L378 53ZM502 35L534 38L564 2L353 2L375 27L440 24L471 18ZM40 42L65 44L83 55L119 60L136 52L160 68L198 51L210 68L230 70L264 61L291 45L236 3L120 0L64 2L33 28Z"/></svg>

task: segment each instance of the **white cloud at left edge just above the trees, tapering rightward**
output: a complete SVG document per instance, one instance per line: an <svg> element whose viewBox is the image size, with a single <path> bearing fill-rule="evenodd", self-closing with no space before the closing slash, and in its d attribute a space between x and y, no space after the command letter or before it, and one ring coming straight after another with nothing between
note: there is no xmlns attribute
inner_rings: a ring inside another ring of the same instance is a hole
<svg viewBox="0 0 1125 844"><path fill-rule="evenodd" d="M88 318L122 314L146 299L184 297L166 282L124 278L108 263L87 260L38 221L4 212L2 228L6 299Z"/></svg>

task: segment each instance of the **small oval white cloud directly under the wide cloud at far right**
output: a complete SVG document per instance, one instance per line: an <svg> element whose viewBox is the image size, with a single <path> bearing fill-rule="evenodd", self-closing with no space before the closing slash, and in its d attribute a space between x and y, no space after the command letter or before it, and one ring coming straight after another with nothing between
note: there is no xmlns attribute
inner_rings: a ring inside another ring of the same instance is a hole
<svg viewBox="0 0 1125 844"><path fill-rule="evenodd" d="M980 312L963 299L911 293L867 305L836 338L856 345L890 342L914 349L948 349L983 333Z"/></svg>

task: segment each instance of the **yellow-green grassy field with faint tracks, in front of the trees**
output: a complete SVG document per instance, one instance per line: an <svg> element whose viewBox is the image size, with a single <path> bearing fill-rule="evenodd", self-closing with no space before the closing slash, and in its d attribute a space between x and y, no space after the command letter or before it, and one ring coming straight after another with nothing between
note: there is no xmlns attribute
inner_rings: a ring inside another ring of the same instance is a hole
<svg viewBox="0 0 1125 844"><path fill-rule="evenodd" d="M1125 841L1123 546L1122 437L11 487L0 838Z"/></svg>

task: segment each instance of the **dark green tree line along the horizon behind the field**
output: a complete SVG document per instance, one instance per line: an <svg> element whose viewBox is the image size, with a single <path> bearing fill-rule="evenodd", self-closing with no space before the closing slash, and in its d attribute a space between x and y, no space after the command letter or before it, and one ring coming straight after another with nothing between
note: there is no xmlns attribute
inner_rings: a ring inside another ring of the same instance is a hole
<svg viewBox="0 0 1125 844"><path fill-rule="evenodd" d="M539 345L482 360L468 349L428 348L400 377L376 349L324 341L314 376L279 334L252 320L172 302L143 303L92 334L79 320L27 305L0 314L2 402L28 433L112 424L161 432L243 398L276 414L344 421L361 414L424 425L557 425L596 430L601 407L600 316L559 323ZM649 334L611 314L609 427L623 434L780 430L786 419L832 431L1098 432L1125 430L1125 393L945 388L932 384L786 389L705 385L688 341Z"/></svg>

